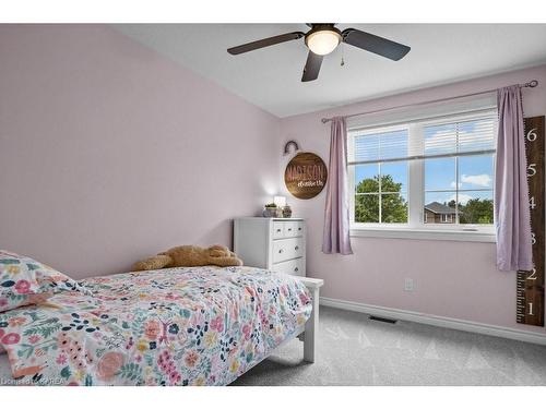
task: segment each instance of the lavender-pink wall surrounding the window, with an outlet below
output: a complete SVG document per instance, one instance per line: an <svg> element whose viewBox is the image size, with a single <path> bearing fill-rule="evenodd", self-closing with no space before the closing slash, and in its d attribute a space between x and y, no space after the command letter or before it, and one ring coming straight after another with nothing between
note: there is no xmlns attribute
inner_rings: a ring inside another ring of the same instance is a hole
<svg viewBox="0 0 546 409"><path fill-rule="evenodd" d="M281 140L295 139L304 151L327 159L330 128L320 122L322 117L451 97L533 79L541 85L524 91L525 115L546 115L546 67L541 67L286 118L281 122ZM515 324L515 275L496 269L495 244L353 238L354 255L322 254L324 193L299 201L285 192L295 213L308 219L308 274L324 278L324 297L546 334L544 328ZM414 292L403 291L405 277L415 280Z"/></svg>

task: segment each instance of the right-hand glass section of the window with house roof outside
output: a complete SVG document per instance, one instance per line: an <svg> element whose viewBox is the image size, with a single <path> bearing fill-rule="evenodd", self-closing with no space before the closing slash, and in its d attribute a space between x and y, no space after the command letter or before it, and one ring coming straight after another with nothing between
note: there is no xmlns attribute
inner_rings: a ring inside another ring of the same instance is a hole
<svg viewBox="0 0 546 409"><path fill-rule="evenodd" d="M495 125L487 117L424 125L424 205L441 222L492 225Z"/></svg>

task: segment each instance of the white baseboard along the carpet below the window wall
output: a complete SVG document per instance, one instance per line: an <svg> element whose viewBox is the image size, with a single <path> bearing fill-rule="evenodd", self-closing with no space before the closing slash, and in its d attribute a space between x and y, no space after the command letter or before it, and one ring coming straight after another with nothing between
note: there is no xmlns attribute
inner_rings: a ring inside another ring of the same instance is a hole
<svg viewBox="0 0 546 409"><path fill-rule="evenodd" d="M477 334L490 335L494 337L515 339L524 342L546 345L546 332L544 334L538 334L538 333L533 333L531 330L513 329L497 325L488 325L472 321L449 318L447 316L423 314L419 312L390 309L379 305L363 304L359 302L344 301L327 297L320 298L320 305L333 306L341 310L356 311L385 318L411 321L414 323L434 325L443 328L466 330L470 333L477 333Z"/></svg>

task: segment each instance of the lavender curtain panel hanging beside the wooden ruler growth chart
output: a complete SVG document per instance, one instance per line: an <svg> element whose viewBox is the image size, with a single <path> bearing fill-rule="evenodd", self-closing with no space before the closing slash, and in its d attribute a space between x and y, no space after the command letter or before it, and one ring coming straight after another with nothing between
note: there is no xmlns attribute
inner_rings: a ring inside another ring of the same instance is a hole
<svg viewBox="0 0 546 409"><path fill-rule="evenodd" d="M499 133L495 177L497 267L533 268L527 160L519 85L498 91Z"/></svg>

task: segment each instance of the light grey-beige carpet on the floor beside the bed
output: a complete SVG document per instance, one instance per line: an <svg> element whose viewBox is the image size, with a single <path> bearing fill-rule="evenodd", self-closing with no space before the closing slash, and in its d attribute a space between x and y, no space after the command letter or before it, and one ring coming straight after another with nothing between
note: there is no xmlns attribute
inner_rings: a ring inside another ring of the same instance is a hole
<svg viewBox="0 0 546 409"><path fill-rule="evenodd" d="M318 360L297 339L233 385L546 385L546 347L322 308Z"/></svg>

